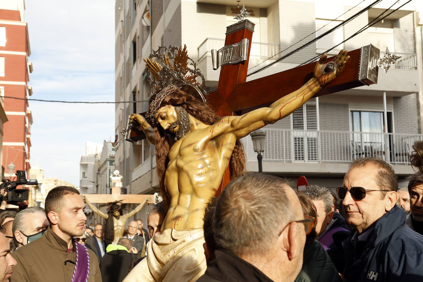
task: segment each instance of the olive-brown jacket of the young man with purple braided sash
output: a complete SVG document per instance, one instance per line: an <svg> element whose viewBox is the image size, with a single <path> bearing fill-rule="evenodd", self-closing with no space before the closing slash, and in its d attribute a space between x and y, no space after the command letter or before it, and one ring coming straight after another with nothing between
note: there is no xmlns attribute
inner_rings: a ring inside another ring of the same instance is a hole
<svg viewBox="0 0 423 282"><path fill-rule="evenodd" d="M13 267L11 282L55 281L69 282L77 259L76 247L70 254L68 244L50 227L43 236L12 253L17 264ZM88 282L101 282L102 277L96 255L88 250L90 268Z"/></svg>

